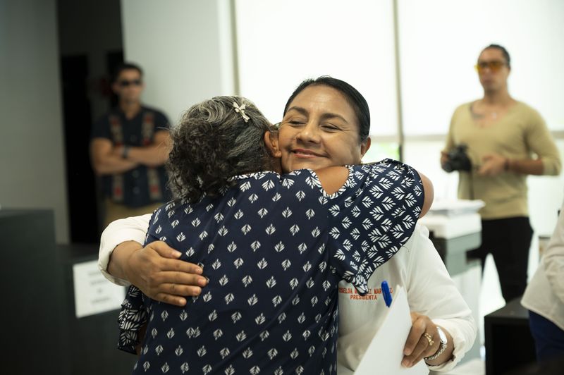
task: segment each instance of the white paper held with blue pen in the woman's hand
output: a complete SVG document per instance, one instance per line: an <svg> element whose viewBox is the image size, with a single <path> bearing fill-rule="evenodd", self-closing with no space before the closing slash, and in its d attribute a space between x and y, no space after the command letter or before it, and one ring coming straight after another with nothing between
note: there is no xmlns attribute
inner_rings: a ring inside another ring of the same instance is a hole
<svg viewBox="0 0 564 375"><path fill-rule="evenodd" d="M429 369L421 360L414 367L401 365L405 340L411 329L410 307L402 286L394 289L393 300L388 314L368 345L355 375L427 375Z"/></svg>

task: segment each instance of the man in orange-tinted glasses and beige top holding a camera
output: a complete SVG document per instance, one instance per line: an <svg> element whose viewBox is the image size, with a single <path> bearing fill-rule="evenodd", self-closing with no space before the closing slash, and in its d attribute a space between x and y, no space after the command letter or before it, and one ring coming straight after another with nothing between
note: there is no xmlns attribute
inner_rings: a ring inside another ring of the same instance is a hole
<svg viewBox="0 0 564 375"><path fill-rule="evenodd" d="M505 302L527 286L533 230L527 207L527 175L560 173L556 144L539 113L508 92L508 51L490 44L476 65L484 97L459 106L450 121L441 166L459 171L458 197L482 199L482 245L468 257L494 256ZM462 146L462 147L461 147ZM470 164L458 163L460 151Z"/></svg>

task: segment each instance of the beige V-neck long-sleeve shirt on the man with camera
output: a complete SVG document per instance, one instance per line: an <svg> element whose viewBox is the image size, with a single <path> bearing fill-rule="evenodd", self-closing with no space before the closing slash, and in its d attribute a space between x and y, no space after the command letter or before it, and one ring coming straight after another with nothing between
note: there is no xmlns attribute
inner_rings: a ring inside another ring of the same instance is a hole
<svg viewBox="0 0 564 375"><path fill-rule="evenodd" d="M482 157L496 153L509 159L539 158L543 174L558 175L561 161L556 144L539 113L525 103L516 102L504 116L487 127L472 118L472 102L459 106L450 121L445 151L456 145L468 146L472 171L460 172L458 197L482 199L482 219L528 216L527 175L506 171L497 176L479 176Z"/></svg>

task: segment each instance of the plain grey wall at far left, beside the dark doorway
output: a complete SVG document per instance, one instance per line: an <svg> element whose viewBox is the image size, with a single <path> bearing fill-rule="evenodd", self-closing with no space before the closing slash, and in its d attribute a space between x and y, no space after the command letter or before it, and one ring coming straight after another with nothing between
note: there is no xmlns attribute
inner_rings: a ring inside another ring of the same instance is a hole
<svg viewBox="0 0 564 375"><path fill-rule="evenodd" d="M56 35L55 0L0 1L0 205L54 209L68 242Z"/></svg>

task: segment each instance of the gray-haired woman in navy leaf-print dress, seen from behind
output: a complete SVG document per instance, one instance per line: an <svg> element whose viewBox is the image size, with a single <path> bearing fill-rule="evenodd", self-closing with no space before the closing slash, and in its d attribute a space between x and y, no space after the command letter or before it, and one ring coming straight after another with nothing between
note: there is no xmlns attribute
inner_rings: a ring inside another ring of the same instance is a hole
<svg viewBox="0 0 564 375"><path fill-rule="evenodd" d="M338 129L357 145L354 112L340 102L327 116L321 101L306 128L289 127L302 148L285 152L336 163L324 137L337 145ZM135 352L142 343L134 374L335 374L338 282L369 293L369 277L409 240L431 203L422 178L398 161L275 173L285 152L270 130L243 97L196 104L173 130L167 166L178 198L154 212L145 245L182 251L209 283L183 307L130 287L120 348Z"/></svg>

